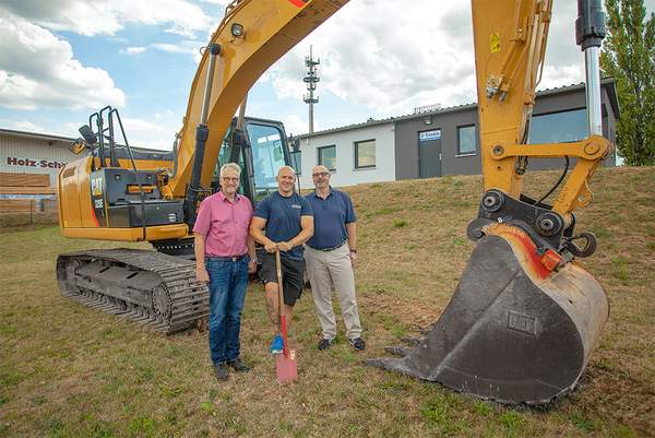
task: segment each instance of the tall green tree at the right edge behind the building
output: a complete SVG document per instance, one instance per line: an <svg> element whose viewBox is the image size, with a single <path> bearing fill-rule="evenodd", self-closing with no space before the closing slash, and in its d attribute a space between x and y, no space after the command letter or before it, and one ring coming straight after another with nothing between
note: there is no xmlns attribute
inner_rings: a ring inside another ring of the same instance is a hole
<svg viewBox="0 0 655 438"><path fill-rule="evenodd" d="M655 165L655 14L643 0L605 0L607 37L600 67L616 79L617 146L627 165Z"/></svg>

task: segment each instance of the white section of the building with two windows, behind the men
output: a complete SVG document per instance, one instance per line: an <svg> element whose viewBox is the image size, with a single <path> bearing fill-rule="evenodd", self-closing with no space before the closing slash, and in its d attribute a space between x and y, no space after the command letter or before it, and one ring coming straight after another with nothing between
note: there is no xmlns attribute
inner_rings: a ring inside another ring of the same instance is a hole
<svg viewBox="0 0 655 438"><path fill-rule="evenodd" d="M313 187L311 169L322 164L335 187L395 179L394 123L361 123L300 138L300 185Z"/></svg>

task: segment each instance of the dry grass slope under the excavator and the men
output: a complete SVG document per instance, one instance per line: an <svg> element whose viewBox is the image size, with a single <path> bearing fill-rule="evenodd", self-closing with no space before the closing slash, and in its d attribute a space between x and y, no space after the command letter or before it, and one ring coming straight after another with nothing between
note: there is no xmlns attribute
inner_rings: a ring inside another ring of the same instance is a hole
<svg viewBox="0 0 655 438"><path fill-rule="evenodd" d="M527 192L549 187L539 173ZM640 437L655 430L655 168L600 169L580 229L611 316L579 389L548 409L505 407L362 364L446 306L473 244L479 177L362 185L357 287L368 348L319 352L311 297L297 306L299 381L275 382L262 287L251 284L242 352L253 366L217 383L207 334L164 338L60 296L57 253L117 244L56 227L0 234L0 436ZM1 233L1 232L0 232ZM147 248L146 245L132 245Z"/></svg>

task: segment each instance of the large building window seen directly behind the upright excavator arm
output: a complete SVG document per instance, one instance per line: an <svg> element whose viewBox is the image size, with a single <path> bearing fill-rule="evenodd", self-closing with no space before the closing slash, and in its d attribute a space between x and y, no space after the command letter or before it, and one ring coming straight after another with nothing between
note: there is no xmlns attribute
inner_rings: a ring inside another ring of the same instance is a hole
<svg viewBox="0 0 655 438"><path fill-rule="evenodd" d="M533 116L527 142L535 144L580 141L586 139L587 134L586 109L573 109Z"/></svg>

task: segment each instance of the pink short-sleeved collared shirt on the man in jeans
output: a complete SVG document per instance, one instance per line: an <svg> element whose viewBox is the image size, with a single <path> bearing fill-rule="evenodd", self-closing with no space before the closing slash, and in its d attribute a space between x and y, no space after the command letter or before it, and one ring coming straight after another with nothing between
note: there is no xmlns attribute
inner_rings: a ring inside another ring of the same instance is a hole
<svg viewBox="0 0 655 438"><path fill-rule="evenodd" d="M235 193L234 202L222 191L205 198L200 204L193 233L205 237L209 257L242 256L248 252L248 227L252 218L252 204Z"/></svg>

